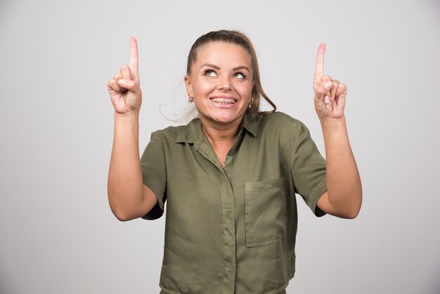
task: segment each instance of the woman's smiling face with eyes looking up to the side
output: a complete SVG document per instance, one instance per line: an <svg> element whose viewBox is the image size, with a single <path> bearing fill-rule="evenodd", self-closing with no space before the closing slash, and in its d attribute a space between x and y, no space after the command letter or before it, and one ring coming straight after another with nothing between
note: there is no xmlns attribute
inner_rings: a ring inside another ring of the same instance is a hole
<svg viewBox="0 0 440 294"><path fill-rule="evenodd" d="M240 123L254 86L250 56L235 44L205 44L198 49L185 84L202 124Z"/></svg>

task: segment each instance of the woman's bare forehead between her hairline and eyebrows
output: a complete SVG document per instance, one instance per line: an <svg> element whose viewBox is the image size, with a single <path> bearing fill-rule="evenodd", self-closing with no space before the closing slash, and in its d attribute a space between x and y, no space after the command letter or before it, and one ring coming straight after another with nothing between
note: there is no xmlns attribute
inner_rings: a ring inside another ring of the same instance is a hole
<svg viewBox="0 0 440 294"><path fill-rule="evenodd" d="M221 41L209 42L197 51L195 64L217 63L237 65L251 65L251 58L242 46Z"/></svg>

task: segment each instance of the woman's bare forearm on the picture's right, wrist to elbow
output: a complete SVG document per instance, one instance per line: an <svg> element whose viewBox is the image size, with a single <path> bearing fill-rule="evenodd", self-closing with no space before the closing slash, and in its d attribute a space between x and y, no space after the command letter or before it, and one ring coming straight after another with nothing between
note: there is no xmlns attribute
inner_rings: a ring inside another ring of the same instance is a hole
<svg viewBox="0 0 440 294"><path fill-rule="evenodd" d="M321 127L327 160L328 202L332 214L356 217L361 209L362 187L345 117L321 120Z"/></svg>

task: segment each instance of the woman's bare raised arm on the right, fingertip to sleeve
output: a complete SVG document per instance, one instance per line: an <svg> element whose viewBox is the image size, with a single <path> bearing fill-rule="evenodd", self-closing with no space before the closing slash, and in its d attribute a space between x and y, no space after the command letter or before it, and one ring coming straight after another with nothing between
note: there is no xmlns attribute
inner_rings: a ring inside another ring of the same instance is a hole
<svg viewBox="0 0 440 294"><path fill-rule="evenodd" d="M344 115L347 87L323 74L324 53L325 44L321 44L313 79L315 109L323 129L327 160L327 191L318 200L318 207L330 215L354 218L361 210L362 186Z"/></svg>

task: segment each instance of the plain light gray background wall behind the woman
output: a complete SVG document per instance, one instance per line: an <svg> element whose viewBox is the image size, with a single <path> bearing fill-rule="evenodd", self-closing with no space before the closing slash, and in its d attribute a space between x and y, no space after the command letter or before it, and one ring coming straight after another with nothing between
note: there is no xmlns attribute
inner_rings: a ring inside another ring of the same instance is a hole
<svg viewBox="0 0 440 294"><path fill-rule="evenodd" d="M299 202L287 293L440 293L439 1L0 2L0 293L158 293L164 219L118 222L106 192L106 84L138 39L141 151L186 107L186 55L210 30L257 49L266 93L323 151L313 66L347 84L357 219ZM167 119L168 118L168 119Z"/></svg>

